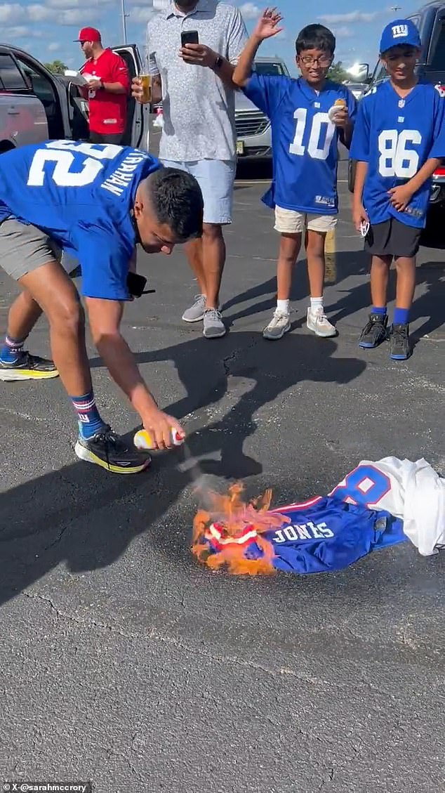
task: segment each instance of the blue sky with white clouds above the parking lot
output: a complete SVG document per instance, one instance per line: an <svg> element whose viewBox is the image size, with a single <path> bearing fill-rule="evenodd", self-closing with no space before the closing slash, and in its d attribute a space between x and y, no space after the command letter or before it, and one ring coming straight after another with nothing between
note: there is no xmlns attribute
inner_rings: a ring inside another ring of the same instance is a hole
<svg viewBox="0 0 445 793"><path fill-rule="evenodd" d="M162 0L154 0L154 3ZM235 0L236 2L236 0ZM390 2L390 0L389 0ZM246 25L252 28L260 10L257 2L238 0ZM395 3L394 3L395 4ZM153 9L153 0L125 0L127 11L127 40L143 46L146 20ZM421 0L400 0L401 8L394 12L390 6L375 0L319 0L317 6L298 0L281 0L284 31L279 37L263 45L264 55L278 55L286 59L293 70L294 40L299 29L310 22L321 21L337 36L337 59L345 65L359 61L374 67L378 52L378 38L388 21L412 13ZM105 44L122 43L120 0L45 0L45 2L8 2L0 6L2 41L19 45L43 61L59 58L74 67L82 63L78 44L73 40L82 25L101 30Z"/></svg>

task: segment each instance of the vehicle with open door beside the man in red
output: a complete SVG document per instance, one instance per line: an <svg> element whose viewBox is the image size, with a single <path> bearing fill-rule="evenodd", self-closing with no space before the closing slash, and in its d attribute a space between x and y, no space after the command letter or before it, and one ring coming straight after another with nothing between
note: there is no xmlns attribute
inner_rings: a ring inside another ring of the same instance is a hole
<svg viewBox="0 0 445 793"><path fill-rule="evenodd" d="M135 44L113 47L130 76L142 69ZM66 78L51 74L28 52L0 44L0 154L48 139L86 140L86 102ZM150 109L128 98L124 144L148 150Z"/></svg>

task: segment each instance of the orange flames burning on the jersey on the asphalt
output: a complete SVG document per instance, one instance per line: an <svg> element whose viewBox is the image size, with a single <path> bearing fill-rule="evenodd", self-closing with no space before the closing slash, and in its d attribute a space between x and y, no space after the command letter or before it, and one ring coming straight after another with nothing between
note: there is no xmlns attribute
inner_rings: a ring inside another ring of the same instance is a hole
<svg viewBox="0 0 445 793"><path fill-rule="evenodd" d="M200 509L193 520L192 554L212 570L226 566L232 575L270 575L275 573L272 542L264 532L291 523L285 515L269 510L272 490L245 502L243 486L230 485L226 495L206 493L208 508ZM245 550L255 543L258 558L247 558Z"/></svg>

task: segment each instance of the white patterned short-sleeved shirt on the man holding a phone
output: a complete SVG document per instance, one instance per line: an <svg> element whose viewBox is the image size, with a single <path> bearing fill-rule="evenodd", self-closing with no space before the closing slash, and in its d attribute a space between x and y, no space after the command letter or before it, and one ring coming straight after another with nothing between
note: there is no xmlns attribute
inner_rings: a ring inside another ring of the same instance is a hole
<svg viewBox="0 0 445 793"><path fill-rule="evenodd" d="M212 69L184 63L179 50L185 30L197 30L200 44L234 64L247 40L240 11L226 2L199 0L186 14L172 3L150 19L146 57L150 74L162 79L164 125L159 157L177 162L234 160L234 89Z"/></svg>

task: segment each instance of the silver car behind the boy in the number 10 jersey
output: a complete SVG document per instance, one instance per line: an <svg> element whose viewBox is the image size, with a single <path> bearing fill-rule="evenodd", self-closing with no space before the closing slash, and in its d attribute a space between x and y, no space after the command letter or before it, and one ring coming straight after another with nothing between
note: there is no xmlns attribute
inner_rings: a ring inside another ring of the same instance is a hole
<svg viewBox="0 0 445 793"><path fill-rule="evenodd" d="M257 58L254 71L259 75L287 75L281 58ZM235 99L235 125L239 159L272 157L271 125L268 117L238 91Z"/></svg>

